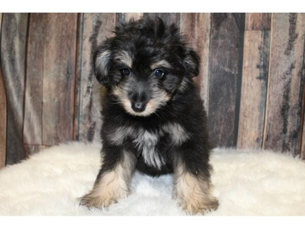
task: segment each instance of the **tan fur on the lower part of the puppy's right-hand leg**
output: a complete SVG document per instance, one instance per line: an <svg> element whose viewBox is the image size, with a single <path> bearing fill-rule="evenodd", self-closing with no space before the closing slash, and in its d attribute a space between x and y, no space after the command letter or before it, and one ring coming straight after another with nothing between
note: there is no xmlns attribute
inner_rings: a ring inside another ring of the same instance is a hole
<svg viewBox="0 0 305 229"><path fill-rule="evenodd" d="M189 214L196 214L216 210L217 199L211 195L211 183L203 176L194 176L179 165L174 174L175 196L179 199L180 206Z"/></svg>

